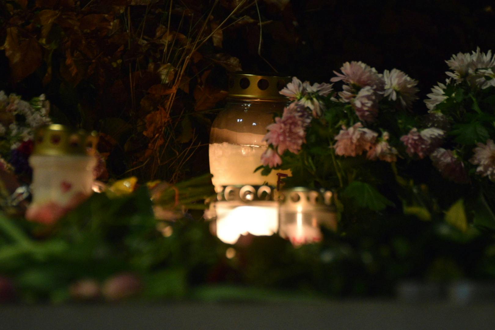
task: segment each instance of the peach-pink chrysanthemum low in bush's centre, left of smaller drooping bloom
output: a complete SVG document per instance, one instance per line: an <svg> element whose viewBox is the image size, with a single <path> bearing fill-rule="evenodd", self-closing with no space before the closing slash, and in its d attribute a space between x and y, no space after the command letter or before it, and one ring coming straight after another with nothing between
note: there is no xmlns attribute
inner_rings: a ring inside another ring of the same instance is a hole
<svg viewBox="0 0 495 330"><path fill-rule="evenodd" d="M360 155L373 146L377 136L378 133L363 128L361 123L356 123L348 129L342 126L342 130L334 138L337 140L334 144L335 154L346 157Z"/></svg>

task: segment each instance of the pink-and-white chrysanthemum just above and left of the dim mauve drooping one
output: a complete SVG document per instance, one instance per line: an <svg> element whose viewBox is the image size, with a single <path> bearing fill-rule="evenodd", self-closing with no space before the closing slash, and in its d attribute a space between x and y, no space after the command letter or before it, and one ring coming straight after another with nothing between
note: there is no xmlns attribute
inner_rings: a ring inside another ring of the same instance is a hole
<svg viewBox="0 0 495 330"><path fill-rule="evenodd" d="M445 132L435 127L424 129L421 132L413 128L409 134L402 136L400 141L407 147L405 151L409 156L417 153L419 158L423 159L438 148L444 138Z"/></svg>

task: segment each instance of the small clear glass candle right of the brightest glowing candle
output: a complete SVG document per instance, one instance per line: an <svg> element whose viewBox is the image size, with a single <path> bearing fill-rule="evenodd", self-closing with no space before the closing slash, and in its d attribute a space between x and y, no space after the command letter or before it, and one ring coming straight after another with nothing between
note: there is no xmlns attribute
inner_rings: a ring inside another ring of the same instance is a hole
<svg viewBox="0 0 495 330"><path fill-rule="evenodd" d="M294 245L319 242L320 226L337 230L332 191L297 187L280 191L279 235Z"/></svg>

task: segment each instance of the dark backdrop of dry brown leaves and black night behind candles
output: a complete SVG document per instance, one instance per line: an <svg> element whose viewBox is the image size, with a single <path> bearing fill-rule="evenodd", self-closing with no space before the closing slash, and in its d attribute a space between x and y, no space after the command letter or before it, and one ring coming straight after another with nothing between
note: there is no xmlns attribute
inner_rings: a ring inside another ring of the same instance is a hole
<svg viewBox="0 0 495 330"><path fill-rule="evenodd" d="M22 8L21 2L26 3L27 9ZM194 12L196 17L204 17L213 2L173 2L181 9L172 11L172 27L187 34L184 29L177 29L181 13L188 10ZM219 0L212 21L217 24L221 22L240 2ZM10 8L16 8L15 11L8 9L9 3ZM158 11L147 11L147 3L152 3ZM168 3L154 0L109 0L100 3L87 0L0 1L0 45L5 41L6 28L15 24L20 26L19 33L23 40L35 38L39 41L40 29L39 26L33 26L33 23L37 22L36 17L44 8L70 11L71 15L76 16L93 12L111 13L114 18L120 17L122 20L126 15L122 12L115 13L114 4L130 5L134 28L133 34L132 31L128 33L127 27L121 26L117 32L118 39L109 38L111 33L104 30L106 25L101 22L91 21L91 24L96 24L90 26L95 30L83 33L71 30L70 24L77 25L77 21L58 22L59 26L52 28L49 35L49 38L52 37L59 43L53 55L49 58L47 51L43 50L43 61L39 58L36 70L30 71L33 73L20 81L12 79L13 71L9 67L5 51L0 50L0 77L3 77L0 79L0 90L20 94L24 98L44 93L52 104L50 115L55 121L95 129L110 136L114 142L107 143L108 147L100 151L109 153L107 165L110 167L110 174L121 177L128 173L127 169L144 163L150 157L149 153L143 155L141 152L147 147L149 150L150 142L143 135L143 122L160 104L163 106L160 103L163 99L149 97L148 89L159 83L159 77L156 72L149 72L149 68L146 68L149 63L159 65L160 62L153 53L152 47L155 45L147 48L148 46L139 43L140 27L146 26L141 35L144 32L145 36L150 36L148 40L152 39L158 23L163 22L162 15L166 12ZM172 169L170 173L164 169L166 173L162 172L161 177L173 175L173 180L176 180L184 176L185 169L190 171L186 177L208 170L205 159L208 154L209 124L224 104L222 99L226 93L221 89L225 90L227 87L229 69L215 61L215 56L219 54L227 54L227 58L231 59L230 56L238 58L243 71L248 73L297 76L312 83L329 82L334 76L333 71L339 71L346 61L363 61L379 72L397 68L419 81L420 100L415 103L414 111L421 113L426 112L426 106L422 102L426 94L430 93L437 82L445 81L445 61L452 54L459 51L470 52L476 50L476 47L487 52L495 46L495 4L489 0L258 0L259 12L254 1L246 3L227 22L232 24L223 30L220 45L215 45L211 40L205 43L198 50L201 60L188 69L187 76L192 77L189 91L181 91L177 95L177 102L174 100L170 113L171 118L175 118L169 122L174 126L171 132L173 131L174 139L178 138L170 143L171 153L161 153L165 155L162 159L170 159L177 155L175 150L187 148L189 141L194 140L191 132L195 132L198 137L196 141L199 147L189 162L183 163L183 167ZM233 23L243 16L247 17L244 22ZM262 57L258 55L259 21L262 22ZM63 37L60 37L60 27L65 29ZM22 35L24 28L29 31ZM92 32L99 29L102 29L102 33ZM86 50L77 48L76 43L81 38L85 38L86 46L83 46ZM152 42L148 43L150 44ZM117 50L119 46L123 50ZM84 51L86 57L81 57L81 52ZM38 52L41 52L40 48ZM67 53L72 53L71 70L77 69L76 76L67 75L68 66L64 65L69 60L66 58ZM110 66L110 63L115 64L117 58L123 61L120 66ZM47 72L47 63L52 63L53 74L51 80L44 84L42 80ZM92 70L88 69L95 64L96 67ZM235 69L231 67L230 70ZM135 81L134 88L129 90L131 75L138 80ZM130 95L134 95L133 102ZM206 104L198 106L199 100L205 99ZM190 123L184 126L182 119L186 117ZM108 124L109 121L111 124ZM185 134L188 130L190 133ZM166 145L167 148L168 146ZM123 158L127 160L125 165ZM153 162L157 164L158 157L154 159ZM157 166L135 174L149 179L145 177L151 171L152 178L158 173Z"/></svg>

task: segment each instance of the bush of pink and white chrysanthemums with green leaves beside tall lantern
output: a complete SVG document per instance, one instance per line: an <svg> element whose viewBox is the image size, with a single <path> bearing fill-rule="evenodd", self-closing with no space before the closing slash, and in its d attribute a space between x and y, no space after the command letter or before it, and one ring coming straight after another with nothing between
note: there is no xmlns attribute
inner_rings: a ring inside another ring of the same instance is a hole
<svg viewBox="0 0 495 330"><path fill-rule="evenodd" d="M397 69L346 62L331 78L339 91L294 77L258 170L290 169L288 187L335 188L341 225L445 214L464 231L470 220L495 229L495 56L478 49L446 62L449 78L425 108L417 81Z"/></svg>

